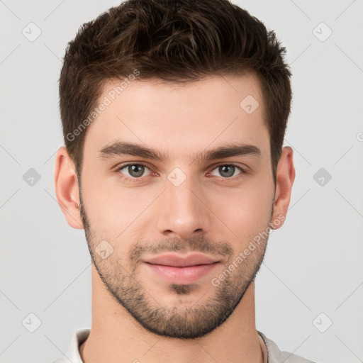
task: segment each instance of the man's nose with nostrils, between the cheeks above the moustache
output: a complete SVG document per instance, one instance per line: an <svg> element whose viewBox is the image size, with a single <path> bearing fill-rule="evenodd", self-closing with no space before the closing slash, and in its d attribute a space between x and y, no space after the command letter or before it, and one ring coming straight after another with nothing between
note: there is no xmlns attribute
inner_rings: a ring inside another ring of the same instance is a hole
<svg viewBox="0 0 363 363"><path fill-rule="evenodd" d="M211 227L208 204L208 196L192 177L187 177L179 186L167 180L160 200L157 229L162 235L181 239L205 235Z"/></svg>

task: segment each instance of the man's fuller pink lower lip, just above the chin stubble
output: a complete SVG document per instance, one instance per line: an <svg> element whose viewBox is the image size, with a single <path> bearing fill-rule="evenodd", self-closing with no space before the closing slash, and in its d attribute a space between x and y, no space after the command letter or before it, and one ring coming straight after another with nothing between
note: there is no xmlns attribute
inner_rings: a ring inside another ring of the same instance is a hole
<svg viewBox="0 0 363 363"><path fill-rule="evenodd" d="M150 264L147 266L167 282L172 284L191 284L211 272L218 262L213 264L198 264L189 267L164 266L162 264Z"/></svg>

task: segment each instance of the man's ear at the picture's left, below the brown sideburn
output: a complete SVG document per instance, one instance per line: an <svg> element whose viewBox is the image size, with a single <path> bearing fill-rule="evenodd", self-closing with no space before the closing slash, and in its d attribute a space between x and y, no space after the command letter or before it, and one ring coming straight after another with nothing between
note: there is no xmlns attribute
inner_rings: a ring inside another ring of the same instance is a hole
<svg viewBox="0 0 363 363"><path fill-rule="evenodd" d="M55 194L67 223L77 229L83 229L79 212L79 188L76 167L67 148L62 146L55 156Z"/></svg>

